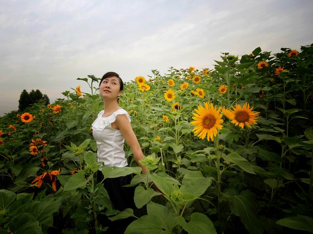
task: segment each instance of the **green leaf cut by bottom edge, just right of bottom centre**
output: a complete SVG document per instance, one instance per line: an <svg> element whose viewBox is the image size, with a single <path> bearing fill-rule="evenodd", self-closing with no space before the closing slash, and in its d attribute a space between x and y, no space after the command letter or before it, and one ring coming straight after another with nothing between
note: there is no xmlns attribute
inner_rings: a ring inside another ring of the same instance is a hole
<svg viewBox="0 0 313 234"><path fill-rule="evenodd" d="M188 223L181 216L177 221L188 234L217 234L212 221L203 213L192 213Z"/></svg>

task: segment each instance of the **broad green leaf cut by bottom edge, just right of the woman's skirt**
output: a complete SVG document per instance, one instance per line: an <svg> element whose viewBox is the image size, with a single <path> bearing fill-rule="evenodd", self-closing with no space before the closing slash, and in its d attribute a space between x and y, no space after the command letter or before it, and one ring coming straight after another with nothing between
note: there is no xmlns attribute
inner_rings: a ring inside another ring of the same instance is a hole
<svg viewBox="0 0 313 234"><path fill-rule="evenodd" d="M125 230L124 234L169 234L164 231L163 223L155 215L143 215L132 222Z"/></svg>

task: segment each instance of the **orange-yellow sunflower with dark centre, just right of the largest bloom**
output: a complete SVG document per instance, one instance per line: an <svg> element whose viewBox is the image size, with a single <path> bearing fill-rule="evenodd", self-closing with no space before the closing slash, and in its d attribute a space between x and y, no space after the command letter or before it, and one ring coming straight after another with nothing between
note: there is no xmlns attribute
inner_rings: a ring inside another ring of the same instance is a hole
<svg viewBox="0 0 313 234"><path fill-rule="evenodd" d="M233 109L233 116L230 119L236 126L239 125L240 128L244 128L246 124L248 128L251 128L252 124L257 124L256 116L259 112L251 111L253 107L250 108L249 104L246 103L243 107L237 104L237 106L233 107Z"/></svg>

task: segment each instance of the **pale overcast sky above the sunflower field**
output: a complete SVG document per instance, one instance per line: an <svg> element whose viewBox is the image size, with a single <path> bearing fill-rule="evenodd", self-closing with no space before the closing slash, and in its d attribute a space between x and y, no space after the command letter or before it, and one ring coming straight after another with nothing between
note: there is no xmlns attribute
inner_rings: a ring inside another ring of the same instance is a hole
<svg viewBox="0 0 313 234"><path fill-rule="evenodd" d="M124 81L168 68L213 68L221 52L313 43L313 0L0 0L0 116L23 89L50 101L76 78ZM89 87L88 87L89 88Z"/></svg>

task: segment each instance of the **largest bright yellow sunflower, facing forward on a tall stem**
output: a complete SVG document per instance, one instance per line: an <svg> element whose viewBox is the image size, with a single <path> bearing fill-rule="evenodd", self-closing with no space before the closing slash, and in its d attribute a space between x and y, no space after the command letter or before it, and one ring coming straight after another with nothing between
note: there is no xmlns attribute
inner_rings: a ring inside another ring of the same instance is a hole
<svg viewBox="0 0 313 234"><path fill-rule="evenodd" d="M197 113L193 113L193 119L190 124L196 125L192 130L195 135L198 135L199 138L204 139L207 136L207 140L210 139L213 141L214 137L217 135L217 129L222 129L223 123L221 107L213 106L212 103L204 102L204 107L202 105L198 106L198 109L195 109Z"/></svg>

